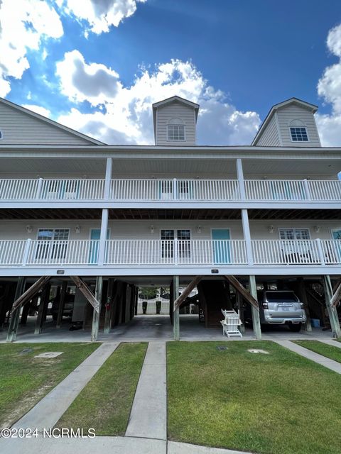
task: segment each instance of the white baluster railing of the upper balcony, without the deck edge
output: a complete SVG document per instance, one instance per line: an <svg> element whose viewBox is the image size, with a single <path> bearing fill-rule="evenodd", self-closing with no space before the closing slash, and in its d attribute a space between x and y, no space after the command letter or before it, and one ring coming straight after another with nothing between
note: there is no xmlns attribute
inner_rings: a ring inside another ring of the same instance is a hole
<svg viewBox="0 0 341 454"><path fill-rule="evenodd" d="M0 201L104 199L104 179L0 179ZM339 180L112 179L113 201L341 201Z"/></svg>

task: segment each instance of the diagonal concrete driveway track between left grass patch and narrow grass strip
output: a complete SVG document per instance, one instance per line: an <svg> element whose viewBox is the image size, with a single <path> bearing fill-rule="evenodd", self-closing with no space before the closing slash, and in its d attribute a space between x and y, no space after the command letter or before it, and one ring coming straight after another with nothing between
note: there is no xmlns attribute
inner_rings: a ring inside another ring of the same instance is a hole
<svg viewBox="0 0 341 454"><path fill-rule="evenodd" d="M90 382L105 360L116 350L119 343L99 345L90 356L75 368L65 379L33 406L14 428L52 428L75 400L85 385Z"/></svg>

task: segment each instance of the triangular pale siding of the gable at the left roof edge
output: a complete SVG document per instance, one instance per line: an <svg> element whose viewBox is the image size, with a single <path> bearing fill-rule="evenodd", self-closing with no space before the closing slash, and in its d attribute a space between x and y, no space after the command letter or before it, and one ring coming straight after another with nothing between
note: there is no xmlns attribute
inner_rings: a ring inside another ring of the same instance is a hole
<svg viewBox="0 0 341 454"><path fill-rule="evenodd" d="M58 126L45 123L11 106L0 102L0 127L3 134L1 145L90 145L93 142L63 131Z"/></svg>

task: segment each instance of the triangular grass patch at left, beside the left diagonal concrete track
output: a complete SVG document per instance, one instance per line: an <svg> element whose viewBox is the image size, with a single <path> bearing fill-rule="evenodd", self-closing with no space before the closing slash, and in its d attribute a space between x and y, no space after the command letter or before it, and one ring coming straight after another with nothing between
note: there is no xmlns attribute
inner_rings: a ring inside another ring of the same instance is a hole
<svg viewBox="0 0 341 454"><path fill-rule="evenodd" d="M9 427L20 419L98 346L99 343L1 343L0 427ZM53 359L33 358L45 352L64 353Z"/></svg>

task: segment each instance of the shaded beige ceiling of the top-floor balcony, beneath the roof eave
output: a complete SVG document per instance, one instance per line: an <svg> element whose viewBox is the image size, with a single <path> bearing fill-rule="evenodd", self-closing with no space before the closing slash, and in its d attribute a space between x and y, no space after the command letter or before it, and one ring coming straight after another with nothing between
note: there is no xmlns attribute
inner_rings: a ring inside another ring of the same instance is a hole
<svg viewBox="0 0 341 454"><path fill-rule="evenodd" d="M335 177L341 171L340 157L332 157L328 154L325 157L301 157L295 159L283 156L264 156L259 158L243 157L244 176L264 178L271 175L283 175L300 178L302 175L310 176L325 175ZM0 176L6 175L94 175L104 177L106 160L104 157L1 157ZM207 152L205 157L193 155L188 157L114 157L112 176L114 178L135 177L205 177L215 175L217 178L236 178L236 164L233 157L210 157Z"/></svg>

